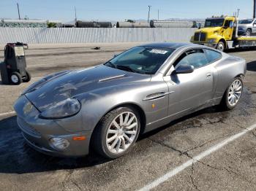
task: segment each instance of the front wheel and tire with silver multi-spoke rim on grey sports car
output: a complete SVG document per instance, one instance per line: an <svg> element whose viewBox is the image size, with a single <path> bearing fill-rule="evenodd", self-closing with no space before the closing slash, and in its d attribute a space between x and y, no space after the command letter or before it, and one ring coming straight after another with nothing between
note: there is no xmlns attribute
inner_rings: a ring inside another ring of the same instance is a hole
<svg viewBox="0 0 256 191"><path fill-rule="evenodd" d="M122 123L127 125L121 125L121 116ZM120 127L119 129L114 125L114 121ZM134 127L130 128L132 125ZM133 107L120 107L106 114L99 122L93 133L92 148L103 157L115 159L127 154L132 149L139 133L140 114L138 111Z"/></svg>

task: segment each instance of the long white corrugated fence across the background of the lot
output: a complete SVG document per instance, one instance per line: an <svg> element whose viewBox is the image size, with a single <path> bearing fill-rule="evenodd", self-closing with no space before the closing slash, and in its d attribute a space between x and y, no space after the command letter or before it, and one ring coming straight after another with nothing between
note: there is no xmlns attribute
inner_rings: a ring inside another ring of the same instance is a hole
<svg viewBox="0 0 256 191"><path fill-rule="evenodd" d="M196 28L0 28L0 44L189 42Z"/></svg>

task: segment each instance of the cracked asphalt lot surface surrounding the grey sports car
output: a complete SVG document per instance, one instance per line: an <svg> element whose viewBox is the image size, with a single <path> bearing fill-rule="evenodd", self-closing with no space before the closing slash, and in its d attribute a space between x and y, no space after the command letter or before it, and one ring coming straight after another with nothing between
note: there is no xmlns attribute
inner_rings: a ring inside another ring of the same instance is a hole
<svg viewBox="0 0 256 191"><path fill-rule="evenodd" d="M137 43L138 44L138 43ZM31 82L63 69L102 63L135 44L31 45L26 50ZM93 50L93 47L101 50ZM256 123L256 51L229 51L246 59L241 101L232 111L203 109L140 136L128 155L105 160L59 158L24 142L12 104L29 83L0 84L0 190L138 190L209 147ZM0 50L0 60L4 55ZM0 82L1 83L1 82ZM193 163L153 190L256 190L256 130Z"/></svg>

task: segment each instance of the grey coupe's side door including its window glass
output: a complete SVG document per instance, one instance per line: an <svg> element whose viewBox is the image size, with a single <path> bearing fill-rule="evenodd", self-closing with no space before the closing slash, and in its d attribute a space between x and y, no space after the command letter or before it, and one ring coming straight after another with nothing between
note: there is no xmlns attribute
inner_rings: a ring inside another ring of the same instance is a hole
<svg viewBox="0 0 256 191"><path fill-rule="evenodd" d="M181 65L194 66L189 74L176 74L175 69ZM173 72L165 81L169 87L168 116L176 118L208 104L214 95L214 67L209 64L203 49L188 50L173 63ZM173 92L173 93L172 93Z"/></svg>

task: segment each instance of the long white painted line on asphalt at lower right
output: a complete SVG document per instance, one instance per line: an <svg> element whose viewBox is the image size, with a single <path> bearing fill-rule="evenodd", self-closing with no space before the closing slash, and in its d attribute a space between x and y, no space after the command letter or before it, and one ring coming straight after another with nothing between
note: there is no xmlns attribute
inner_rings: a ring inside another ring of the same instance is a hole
<svg viewBox="0 0 256 191"><path fill-rule="evenodd" d="M250 130L254 130L255 128L256 128L256 124L250 126L249 128L242 130L240 133L237 133L236 135L230 136L230 138L227 138L224 141L221 141L219 144L216 144L213 147L210 147L205 152L201 152L199 155L192 157L192 159L188 160L186 163L179 165L178 167L174 168L173 170L167 172L167 174L165 174L165 175L159 177L158 179L154 180L153 182L147 184L145 187L141 188L139 191L151 190L154 187L157 187L159 184L162 184L163 182L167 181L171 177L180 173L185 168L191 166L193 163L197 163L198 160L201 160L204 157L207 157L208 155L210 155L211 153L216 152L218 149L221 149L225 145L229 144L231 141L238 139L239 137L243 136L245 133L249 132Z"/></svg>

